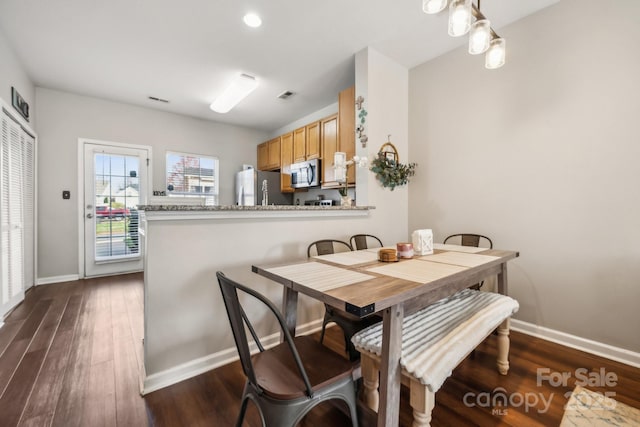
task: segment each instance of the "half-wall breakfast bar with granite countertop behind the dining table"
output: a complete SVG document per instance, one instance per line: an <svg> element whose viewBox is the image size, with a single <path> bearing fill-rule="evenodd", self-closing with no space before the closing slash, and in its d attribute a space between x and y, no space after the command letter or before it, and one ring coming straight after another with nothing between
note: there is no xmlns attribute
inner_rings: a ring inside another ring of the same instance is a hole
<svg viewBox="0 0 640 427"><path fill-rule="evenodd" d="M251 272L306 256L310 241L383 230L387 208L321 206L140 206L144 253L143 393L225 365L236 357L216 271L248 283L280 304L282 288ZM406 239L406 224L383 230ZM298 329L321 325L323 306L299 301ZM274 325L258 333L277 341Z"/></svg>

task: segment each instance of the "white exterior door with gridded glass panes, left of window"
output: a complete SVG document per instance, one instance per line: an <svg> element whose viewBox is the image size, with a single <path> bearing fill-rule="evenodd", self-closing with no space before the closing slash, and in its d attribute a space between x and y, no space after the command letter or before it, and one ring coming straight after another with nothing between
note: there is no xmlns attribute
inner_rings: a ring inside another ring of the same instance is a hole
<svg viewBox="0 0 640 427"><path fill-rule="evenodd" d="M146 203L149 151L84 143L84 275L140 271L137 205Z"/></svg>

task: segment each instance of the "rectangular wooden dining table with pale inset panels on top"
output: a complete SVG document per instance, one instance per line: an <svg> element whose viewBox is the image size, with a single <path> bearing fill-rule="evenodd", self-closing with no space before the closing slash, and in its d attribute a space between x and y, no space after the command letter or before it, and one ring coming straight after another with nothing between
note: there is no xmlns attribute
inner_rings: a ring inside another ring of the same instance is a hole
<svg viewBox="0 0 640 427"><path fill-rule="evenodd" d="M378 261L364 249L311 257L252 271L283 285L282 311L295 335L298 294L359 317L382 314L380 405L377 425L397 426L400 412L400 349L405 315L497 276L507 294L507 262L518 252L435 244L433 254L397 262Z"/></svg>

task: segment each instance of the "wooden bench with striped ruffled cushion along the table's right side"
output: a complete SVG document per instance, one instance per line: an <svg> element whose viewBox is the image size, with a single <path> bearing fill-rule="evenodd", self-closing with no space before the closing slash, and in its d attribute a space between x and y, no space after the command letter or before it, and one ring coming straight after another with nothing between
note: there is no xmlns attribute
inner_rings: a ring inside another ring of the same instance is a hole
<svg viewBox="0 0 640 427"><path fill-rule="evenodd" d="M518 311L514 299L491 292L465 289L404 318L402 323L402 383L410 390L413 426L428 426L435 393L453 369L496 328L498 371L509 370L509 319ZM361 353L367 406L378 410L378 376L382 354L382 324L353 336Z"/></svg>

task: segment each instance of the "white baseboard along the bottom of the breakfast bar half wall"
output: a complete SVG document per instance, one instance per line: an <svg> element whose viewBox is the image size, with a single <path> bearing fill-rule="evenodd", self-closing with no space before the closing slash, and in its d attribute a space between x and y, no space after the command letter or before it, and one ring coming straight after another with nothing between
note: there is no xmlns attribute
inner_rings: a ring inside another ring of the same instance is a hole
<svg viewBox="0 0 640 427"><path fill-rule="evenodd" d="M322 319L301 325L296 328L297 335L306 335L319 331L322 327ZM231 331L229 331L231 334ZM262 345L265 348L273 347L280 342L280 333L269 335L261 338ZM251 352L257 351L258 347L252 342L250 346ZM182 365L175 366L165 371L151 374L144 378L141 394L144 396L153 391L164 387L179 383L186 379L195 377L212 369L227 365L238 360L238 351L235 347L227 348L217 353L210 354L199 359L192 360Z"/></svg>

